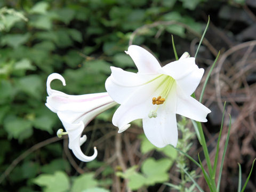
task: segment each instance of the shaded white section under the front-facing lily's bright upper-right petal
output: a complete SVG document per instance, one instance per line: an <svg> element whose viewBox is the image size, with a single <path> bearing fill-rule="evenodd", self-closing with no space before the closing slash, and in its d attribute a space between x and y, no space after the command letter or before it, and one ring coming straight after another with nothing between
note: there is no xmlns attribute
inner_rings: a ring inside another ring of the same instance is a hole
<svg viewBox="0 0 256 192"><path fill-rule="evenodd" d="M197 86L199 85L202 77L204 74L204 69L196 69L186 75L183 78L178 79L176 82L182 89L183 93L187 96L190 96L192 93L195 92Z"/></svg>

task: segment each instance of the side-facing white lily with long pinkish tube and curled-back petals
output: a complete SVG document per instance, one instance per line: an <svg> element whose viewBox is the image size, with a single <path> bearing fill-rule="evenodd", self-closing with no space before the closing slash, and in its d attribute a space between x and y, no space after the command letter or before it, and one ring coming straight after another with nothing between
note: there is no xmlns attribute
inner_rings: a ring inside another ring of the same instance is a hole
<svg viewBox="0 0 256 192"><path fill-rule="evenodd" d="M107 92L94 93L84 95L68 95L66 93L51 89L51 82L59 79L65 86L65 79L57 73L49 75L47 78L47 93L45 105L54 113L57 113L63 127L67 131L63 133L60 129L57 132L58 137L68 134L68 147L74 155L84 162L89 162L97 157L97 149L94 147L94 154L86 156L83 154L80 146L86 141L86 135L81 137L84 127L89 124L92 119L103 111L115 106L117 103L113 101Z"/></svg>

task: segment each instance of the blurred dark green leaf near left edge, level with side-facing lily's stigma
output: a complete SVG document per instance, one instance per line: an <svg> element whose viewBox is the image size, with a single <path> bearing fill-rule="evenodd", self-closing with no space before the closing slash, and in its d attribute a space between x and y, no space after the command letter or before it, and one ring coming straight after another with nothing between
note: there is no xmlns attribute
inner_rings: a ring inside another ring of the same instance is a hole
<svg viewBox="0 0 256 192"><path fill-rule="evenodd" d="M9 115L4 120L4 129L8 133L8 138L23 139L29 138L33 134L32 123L27 119Z"/></svg>

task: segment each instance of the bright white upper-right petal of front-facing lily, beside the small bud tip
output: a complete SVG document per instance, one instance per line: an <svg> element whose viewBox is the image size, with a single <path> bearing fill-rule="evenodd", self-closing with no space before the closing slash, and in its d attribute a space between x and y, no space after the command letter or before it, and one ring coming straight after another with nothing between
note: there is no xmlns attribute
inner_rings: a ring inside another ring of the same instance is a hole
<svg viewBox="0 0 256 192"><path fill-rule="evenodd" d="M191 57L173 61L159 69L158 73L169 75L175 80L178 80L196 69L198 69L198 67L195 63L195 58Z"/></svg>

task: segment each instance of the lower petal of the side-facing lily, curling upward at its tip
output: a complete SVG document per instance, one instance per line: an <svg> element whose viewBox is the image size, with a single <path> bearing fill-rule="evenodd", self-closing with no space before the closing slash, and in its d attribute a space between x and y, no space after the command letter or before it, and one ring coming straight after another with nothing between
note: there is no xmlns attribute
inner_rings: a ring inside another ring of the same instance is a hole
<svg viewBox="0 0 256 192"><path fill-rule="evenodd" d="M73 151L74 155L83 162L93 161L93 159L95 159L98 155L97 149L94 147L94 154L92 156L86 156L80 148L81 134L84 130L84 123L81 121L76 124L70 124L68 122L62 121L62 124L68 132L68 147Z"/></svg>

